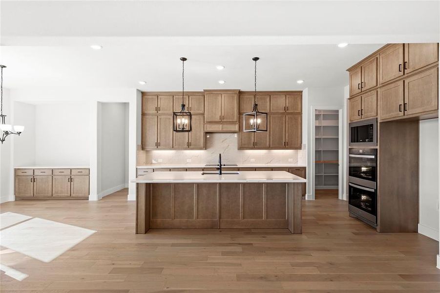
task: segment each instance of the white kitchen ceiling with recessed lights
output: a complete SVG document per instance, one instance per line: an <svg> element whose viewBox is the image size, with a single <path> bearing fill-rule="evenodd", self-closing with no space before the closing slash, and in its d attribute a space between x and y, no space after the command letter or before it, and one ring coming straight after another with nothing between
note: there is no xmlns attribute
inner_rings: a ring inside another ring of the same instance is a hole
<svg viewBox="0 0 440 293"><path fill-rule="evenodd" d="M383 43L439 39L438 1L2 0L0 8L7 88L181 90L181 56L188 90L252 90L254 56L259 90L344 86L345 69Z"/></svg>

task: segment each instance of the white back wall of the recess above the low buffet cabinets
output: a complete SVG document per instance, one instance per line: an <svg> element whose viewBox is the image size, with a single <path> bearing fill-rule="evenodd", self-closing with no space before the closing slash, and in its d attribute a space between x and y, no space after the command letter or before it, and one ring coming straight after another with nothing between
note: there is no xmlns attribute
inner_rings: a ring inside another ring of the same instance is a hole
<svg viewBox="0 0 440 293"><path fill-rule="evenodd" d="M35 164L88 166L90 106L87 102L35 106Z"/></svg>

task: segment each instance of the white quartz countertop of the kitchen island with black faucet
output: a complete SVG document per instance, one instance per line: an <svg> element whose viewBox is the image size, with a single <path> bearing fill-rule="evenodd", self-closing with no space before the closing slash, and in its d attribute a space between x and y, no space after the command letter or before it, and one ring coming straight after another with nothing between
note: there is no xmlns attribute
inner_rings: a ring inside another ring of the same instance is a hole
<svg viewBox="0 0 440 293"><path fill-rule="evenodd" d="M134 183L303 183L306 179L286 171L240 171L239 174L207 174L201 171L152 172L139 176Z"/></svg>

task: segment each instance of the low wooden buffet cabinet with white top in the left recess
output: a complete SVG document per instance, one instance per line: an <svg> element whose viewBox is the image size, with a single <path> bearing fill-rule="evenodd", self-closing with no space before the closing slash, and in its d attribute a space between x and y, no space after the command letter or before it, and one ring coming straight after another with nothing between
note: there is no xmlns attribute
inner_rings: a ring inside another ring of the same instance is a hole
<svg viewBox="0 0 440 293"><path fill-rule="evenodd" d="M88 199L88 168L15 169L15 198Z"/></svg>

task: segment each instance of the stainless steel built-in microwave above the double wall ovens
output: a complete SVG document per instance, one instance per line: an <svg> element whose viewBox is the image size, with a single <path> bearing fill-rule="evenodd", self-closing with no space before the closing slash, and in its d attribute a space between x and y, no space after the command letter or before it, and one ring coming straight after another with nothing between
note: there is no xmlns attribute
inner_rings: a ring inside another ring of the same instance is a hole
<svg viewBox="0 0 440 293"><path fill-rule="evenodd" d="M377 119L352 122L350 126L350 146L377 146Z"/></svg>

